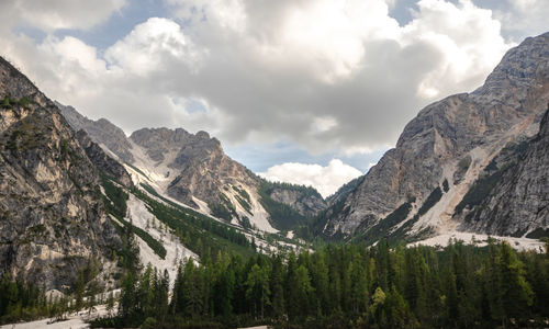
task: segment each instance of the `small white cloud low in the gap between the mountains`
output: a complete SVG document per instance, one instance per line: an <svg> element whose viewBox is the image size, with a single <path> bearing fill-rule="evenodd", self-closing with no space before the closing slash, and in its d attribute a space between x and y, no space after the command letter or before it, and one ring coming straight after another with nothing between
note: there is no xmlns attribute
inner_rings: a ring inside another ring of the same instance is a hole
<svg viewBox="0 0 549 329"><path fill-rule="evenodd" d="M339 159L333 159L328 166L287 162L269 168L259 173L270 181L288 182L315 188L323 197L334 194L339 186L360 177L362 173Z"/></svg>

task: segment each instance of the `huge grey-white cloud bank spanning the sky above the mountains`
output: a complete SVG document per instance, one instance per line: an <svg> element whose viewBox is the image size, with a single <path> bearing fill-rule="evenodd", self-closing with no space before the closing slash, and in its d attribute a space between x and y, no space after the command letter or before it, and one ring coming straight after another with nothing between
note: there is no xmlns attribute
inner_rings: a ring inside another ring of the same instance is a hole
<svg viewBox="0 0 549 329"><path fill-rule="evenodd" d="M4 31L2 53L52 98L126 132L182 126L233 145L292 140L354 155L393 145L428 102L480 86L511 46L491 12L467 0L422 0L406 26L383 0L168 2L177 18L148 19L108 49ZM91 26L121 3L63 24ZM204 111L186 109L197 101Z"/></svg>

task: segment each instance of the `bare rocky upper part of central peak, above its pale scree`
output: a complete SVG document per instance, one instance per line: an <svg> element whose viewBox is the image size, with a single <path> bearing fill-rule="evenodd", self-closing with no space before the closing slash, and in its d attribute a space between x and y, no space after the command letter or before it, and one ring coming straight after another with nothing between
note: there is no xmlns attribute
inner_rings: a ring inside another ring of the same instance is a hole
<svg viewBox="0 0 549 329"><path fill-rule="evenodd" d="M221 143L206 133L193 135L182 128L143 128L130 138L155 164L168 168L171 181L167 193L186 204L194 204L193 197L211 205L222 204L225 189L256 185L247 169L228 158Z"/></svg>

